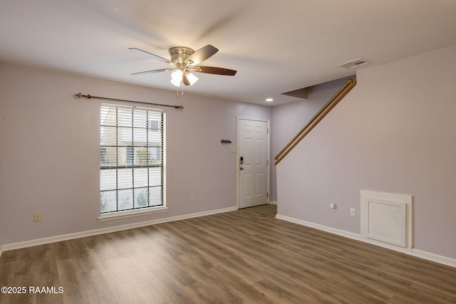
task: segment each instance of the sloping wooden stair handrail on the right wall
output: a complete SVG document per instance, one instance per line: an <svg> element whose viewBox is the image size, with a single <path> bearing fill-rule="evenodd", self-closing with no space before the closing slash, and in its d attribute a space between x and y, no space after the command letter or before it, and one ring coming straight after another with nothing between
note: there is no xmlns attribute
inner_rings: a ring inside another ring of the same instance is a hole
<svg viewBox="0 0 456 304"><path fill-rule="evenodd" d="M279 164L279 162L281 162L281 160L284 159L284 157L286 157L286 155L289 154L289 152L293 150L293 148L296 147L296 145L298 145L307 134L309 134L318 122L320 122L323 117L325 117L326 114L328 114L328 112L331 111L331 109L334 108L338 102L348 94L348 92L351 91L351 89L353 89L355 85L356 81L348 79L347 82L337 91L337 93L334 94L333 97L331 97L328 102L323 105L323 107L321 107L321 109L316 113L316 115L314 115L314 117L311 118L311 120L309 120L309 122L307 122L307 125L299 130L299 132L288 142L288 144L286 144L285 147L280 150L276 156L274 156L274 159L276 159L274 164Z"/></svg>

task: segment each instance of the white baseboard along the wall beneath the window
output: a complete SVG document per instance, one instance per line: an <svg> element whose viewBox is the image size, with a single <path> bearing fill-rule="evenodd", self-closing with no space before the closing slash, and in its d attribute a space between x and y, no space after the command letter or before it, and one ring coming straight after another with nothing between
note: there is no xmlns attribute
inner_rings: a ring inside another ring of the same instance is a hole
<svg viewBox="0 0 456 304"><path fill-rule="evenodd" d="M167 217L165 219L155 219L152 221L141 221L139 223L113 226L113 227L108 227L108 228L103 228L103 229L81 231L81 232L76 232L73 234L63 234L61 236L51 236L48 238L36 239L36 240L31 240L31 241L23 241L23 242L19 242L19 243L9 243L9 244L4 244L4 245L0 246L0 256L1 256L1 251L9 251L9 250L14 250L14 249L43 245L46 243L55 243L58 241L79 239L79 238L83 238L86 236L95 236L98 234L108 234L110 232L115 232L115 231L123 231L123 230L128 230L128 229L144 227L144 226L167 223L169 221L180 221L182 219L192 219L192 218L199 217L199 216L207 216L207 215L211 215L211 214L219 214L219 213L235 211L235 210L237 210L237 207L234 206L234 207L229 207L229 208L224 208L224 209L202 211L202 212L197 212L194 214L185 214L182 216L172 216L172 217Z"/></svg>

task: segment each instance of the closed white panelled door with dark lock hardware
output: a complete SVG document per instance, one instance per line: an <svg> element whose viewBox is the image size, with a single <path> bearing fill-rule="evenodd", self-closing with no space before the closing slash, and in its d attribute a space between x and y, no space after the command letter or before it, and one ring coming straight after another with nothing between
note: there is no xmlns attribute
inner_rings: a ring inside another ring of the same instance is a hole
<svg viewBox="0 0 456 304"><path fill-rule="evenodd" d="M268 122L238 120L239 208L268 203Z"/></svg>

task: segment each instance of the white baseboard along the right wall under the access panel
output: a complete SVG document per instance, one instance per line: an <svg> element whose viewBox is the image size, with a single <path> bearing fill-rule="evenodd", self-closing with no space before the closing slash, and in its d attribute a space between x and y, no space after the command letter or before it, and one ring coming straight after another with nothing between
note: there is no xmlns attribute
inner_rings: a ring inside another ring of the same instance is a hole
<svg viewBox="0 0 456 304"><path fill-rule="evenodd" d="M439 255L437 255L435 253L430 253L430 252L426 252L426 251L420 251L420 250L415 249L415 248L413 248L411 252L408 251L408 250L401 250L400 248L395 248L393 246L390 246L387 243L380 244L380 242L373 242L373 241L371 241L369 239L365 239L365 238L363 238L361 236L361 234L353 234L352 232L339 230L339 229L334 229L334 228L331 228L331 227L328 227L328 226L323 226L323 225L320 225L320 224L311 223L309 221L303 221L301 219L294 219L292 217L283 216L283 215L280 215L280 214L276 215L276 219L281 219L283 221L289 221L289 222L294 223L294 224L299 224L299 225L302 225L302 226L311 227L311 228L318 229L318 230L321 230L321 231L326 231L326 232L329 232L330 234L336 234L338 236L343 236L343 237L346 237L348 239L353 239L353 240L356 240L356 241L362 241L364 243L370 243L371 245L381 246L383 248L388 248L390 250L406 253L406 254L408 254L410 256L416 256L418 258L423 258L423 259L425 259L427 261L432 261L432 262L436 262L436 263L440 263L440 264L443 264L443 265L446 265L446 266L451 266L451 267L455 267L456 268L456 259L455 258L447 258L446 256L439 256Z"/></svg>

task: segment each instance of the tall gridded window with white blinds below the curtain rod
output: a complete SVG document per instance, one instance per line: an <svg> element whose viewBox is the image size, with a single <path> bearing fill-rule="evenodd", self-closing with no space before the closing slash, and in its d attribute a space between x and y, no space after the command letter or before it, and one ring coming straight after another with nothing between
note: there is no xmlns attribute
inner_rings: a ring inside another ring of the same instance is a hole
<svg viewBox="0 0 456 304"><path fill-rule="evenodd" d="M99 219L165 207L164 142L165 112L101 105Z"/></svg>

